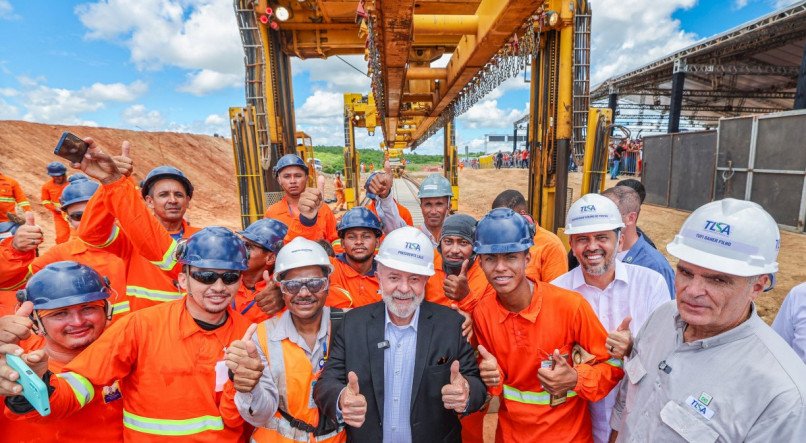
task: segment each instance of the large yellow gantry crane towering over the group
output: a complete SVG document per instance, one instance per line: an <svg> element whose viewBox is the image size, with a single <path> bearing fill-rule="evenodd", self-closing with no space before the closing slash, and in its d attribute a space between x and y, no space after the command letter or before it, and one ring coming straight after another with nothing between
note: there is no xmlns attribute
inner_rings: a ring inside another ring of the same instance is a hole
<svg viewBox="0 0 806 443"><path fill-rule="evenodd" d="M387 148L413 150L444 129L444 174L457 204L454 119L505 80L530 72L530 210L546 229L564 224L572 198L569 154L582 156L588 131L587 0L235 0L234 5L246 66L246 106L230 111L236 162L244 159L236 168L243 220L253 220L262 205L280 198L270 167L282 154L295 152L290 57L360 54L368 61L376 123ZM447 64L434 65L442 56L449 56ZM360 162L350 148L354 138L348 137L354 127L345 122L345 176L353 171L345 194L357 202L354 172ZM253 152L244 154L245 149Z"/></svg>

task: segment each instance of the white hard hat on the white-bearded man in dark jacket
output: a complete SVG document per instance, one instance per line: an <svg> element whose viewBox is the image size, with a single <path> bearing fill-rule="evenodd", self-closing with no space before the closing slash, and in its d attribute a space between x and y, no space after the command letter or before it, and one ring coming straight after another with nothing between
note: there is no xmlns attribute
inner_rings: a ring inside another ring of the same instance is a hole
<svg viewBox="0 0 806 443"><path fill-rule="evenodd" d="M411 226L390 232L383 239L375 260L398 271L434 275L434 246L422 231Z"/></svg>

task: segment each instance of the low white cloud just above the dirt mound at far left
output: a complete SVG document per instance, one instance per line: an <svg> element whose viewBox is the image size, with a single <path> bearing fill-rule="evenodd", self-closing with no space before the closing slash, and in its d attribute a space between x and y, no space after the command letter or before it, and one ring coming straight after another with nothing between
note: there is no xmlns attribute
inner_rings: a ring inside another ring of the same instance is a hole
<svg viewBox="0 0 806 443"><path fill-rule="evenodd" d="M68 125L96 126L96 122L84 120L81 115L103 109L106 102L132 101L148 89L141 81L128 85L95 83L86 88L71 90L50 87L42 77L23 76L17 80L23 86L17 102L27 111L23 120Z"/></svg>

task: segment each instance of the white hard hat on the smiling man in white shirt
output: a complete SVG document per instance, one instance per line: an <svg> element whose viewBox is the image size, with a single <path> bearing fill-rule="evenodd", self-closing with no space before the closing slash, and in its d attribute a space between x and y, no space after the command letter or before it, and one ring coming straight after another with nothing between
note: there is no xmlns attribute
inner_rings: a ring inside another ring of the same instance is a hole
<svg viewBox="0 0 806 443"><path fill-rule="evenodd" d="M618 206L600 194L583 195L571 205L565 217L566 235L612 231L623 227Z"/></svg>

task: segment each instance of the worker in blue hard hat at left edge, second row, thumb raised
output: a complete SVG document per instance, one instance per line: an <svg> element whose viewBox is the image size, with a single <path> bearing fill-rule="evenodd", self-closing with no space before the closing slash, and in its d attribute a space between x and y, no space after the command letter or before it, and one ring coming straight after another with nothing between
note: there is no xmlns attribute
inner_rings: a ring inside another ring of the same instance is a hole
<svg viewBox="0 0 806 443"><path fill-rule="evenodd" d="M98 183L84 174L74 174L60 197L61 210L73 229L79 229L87 212L87 202L98 190ZM78 237L50 247L42 255L37 248L42 243L42 228L36 224L33 212L25 214L25 224L17 228L10 245L2 247L3 266L0 267L0 291L22 289L29 278L45 266L59 261L75 261L89 266L109 278L112 293L112 320L117 320L119 303L125 301L126 264L111 252L89 245Z"/></svg>

